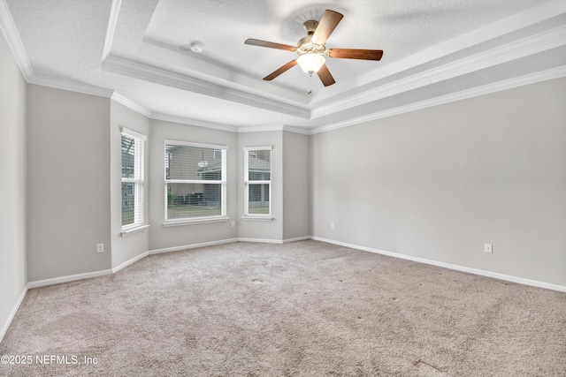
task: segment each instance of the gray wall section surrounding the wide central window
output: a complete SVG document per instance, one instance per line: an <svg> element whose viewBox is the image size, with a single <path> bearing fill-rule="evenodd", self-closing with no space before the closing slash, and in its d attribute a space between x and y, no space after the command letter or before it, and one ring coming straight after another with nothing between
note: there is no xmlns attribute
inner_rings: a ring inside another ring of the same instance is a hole
<svg viewBox="0 0 566 377"><path fill-rule="evenodd" d="M194 125L150 120L149 138L149 250L167 249L224 239L237 238L236 170L238 144L235 132L213 130ZM227 146L227 198L228 222L200 223L176 227L163 226L164 222L164 140L172 139L194 143Z"/></svg>

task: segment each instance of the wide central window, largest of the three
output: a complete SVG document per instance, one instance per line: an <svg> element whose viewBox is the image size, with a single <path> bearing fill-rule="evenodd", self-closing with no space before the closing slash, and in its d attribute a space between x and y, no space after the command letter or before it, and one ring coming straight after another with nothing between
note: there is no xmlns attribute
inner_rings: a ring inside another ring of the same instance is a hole
<svg viewBox="0 0 566 377"><path fill-rule="evenodd" d="M165 141L165 223L226 217L226 147Z"/></svg>

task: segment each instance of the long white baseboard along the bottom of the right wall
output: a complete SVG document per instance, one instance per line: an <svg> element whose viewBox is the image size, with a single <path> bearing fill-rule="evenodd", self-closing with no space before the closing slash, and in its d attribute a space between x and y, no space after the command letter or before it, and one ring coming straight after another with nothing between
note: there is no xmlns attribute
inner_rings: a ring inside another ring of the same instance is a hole
<svg viewBox="0 0 566 377"><path fill-rule="evenodd" d="M432 266L438 266L438 267L441 267L441 268L449 268L449 269L454 269L456 271L467 272L467 273L470 273L470 274L493 277L494 279L505 280L505 281L508 281L508 282L520 283L520 284L524 284L524 285L531 285L532 287L546 288L547 290L558 290L558 291L561 291L561 292L566 292L566 287L562 286L562 285L539 282L539 281L536 281L536 280L525 279L523 277L517 277L517 276L512 276L512 275L503 275L503 274L499 274L499 273L492 272L492 271L486 271L486 270L478 269L478 268L468 268L468 267L458 266L458 265L454 265L454 264L450 264L450 263L440 262L440 261L437 261L437 260L427 260L427 259L424 259L424 258L413 257L413 256L410 256L410 255L405 255L405 254L400 254L400 253L391 253L391 252L386 252L386 251L379 250L379 249L374 249L374 248L371 248L371 247L365 247L365 246L360 246L360 245L352 245L352 244L348 244L346 242L334 241L332 239L327 239L327 238L312 237L312 239L314 239L315 241L326 242L328 244L340 245L340 246L350 247L350 248L356 249L356 250L362 250L363 252L378 253L378 254L394 257L394 258L400 258L402 260L412 260L412 261L415 261L415 262L424 263L424 264L428 264L428 265L432 265Z"/></svg>

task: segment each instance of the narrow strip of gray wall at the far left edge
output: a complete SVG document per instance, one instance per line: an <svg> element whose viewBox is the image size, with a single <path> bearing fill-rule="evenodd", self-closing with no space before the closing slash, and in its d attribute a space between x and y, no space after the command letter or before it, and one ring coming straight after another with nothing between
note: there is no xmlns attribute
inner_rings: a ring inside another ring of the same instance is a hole
<svg viewBox="0 0 566 377"><path fill-rule="evenodd" d="M26 283L26 81L0 33L0 340Z"/></svg>

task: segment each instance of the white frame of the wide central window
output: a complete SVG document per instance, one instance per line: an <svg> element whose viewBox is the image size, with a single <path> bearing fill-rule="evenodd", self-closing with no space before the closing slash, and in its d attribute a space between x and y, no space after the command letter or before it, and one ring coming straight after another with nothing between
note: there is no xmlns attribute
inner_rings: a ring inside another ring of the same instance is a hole
<svg viewBox="0 0 566 377"><path fill-rule="evenodd" d="M167 178L167 161L166 161L166 154L167 154L167 146L180 146L180 147L199 147L199 148L207 148L213 150L213 155L217 155L217 151L220 151L220 160L221 160L221 167L222 167L222 174L219 180L205 180L205 179L168 179ZM226 207L227 207L227 155L228 155L228 147L227 146L220 146L214 144L203 144L191 141L181 141L181 140L173 140L173 139L165 139L164 140L164 227L171 227L171 226L180 226L180 225L190 225L196 223L207 223L207 222L226 222L228 221L228 217L226 215ZM201 184L201 185L220 185L220 215L210 215L210 216L197 216L197 217L182 217L177 219L168 219L167 218L167 211L168 211L168 200L167 200L167 185L169 184Z"/></svg>

